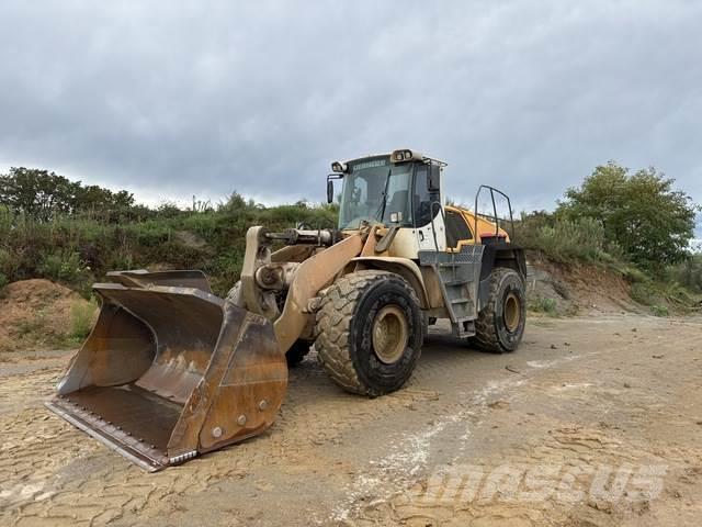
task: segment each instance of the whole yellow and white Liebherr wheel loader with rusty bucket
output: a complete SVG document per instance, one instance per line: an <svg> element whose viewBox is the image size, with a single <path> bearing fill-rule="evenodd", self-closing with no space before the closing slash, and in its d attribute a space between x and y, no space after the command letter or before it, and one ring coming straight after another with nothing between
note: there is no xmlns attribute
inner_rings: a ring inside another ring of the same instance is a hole
<svg viewBox="0 0 702 527"><path fill-rule="evenodd" d="M526 266L497 214L507 197L482 186L473 211L449 206L445 166L410 149L333 162L338 228L250 227L226 299L200 271L109 273L47 407L157 471L271 426L313 345L333 382L371 397L407 382L439 318L472 346L513 351Z"/></svg>

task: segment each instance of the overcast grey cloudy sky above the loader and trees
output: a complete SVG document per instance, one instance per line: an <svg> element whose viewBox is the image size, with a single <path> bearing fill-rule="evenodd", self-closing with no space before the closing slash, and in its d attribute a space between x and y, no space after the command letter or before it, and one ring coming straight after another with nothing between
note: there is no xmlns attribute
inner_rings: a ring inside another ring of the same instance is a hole
<svg viewBox="0 0 702 527"><path fill-rule="evenodd" d="M3 0L0 171L149 203L321 201L335 159L412 147L548 208L592 168L702 202L702 2Z"/></svg>

